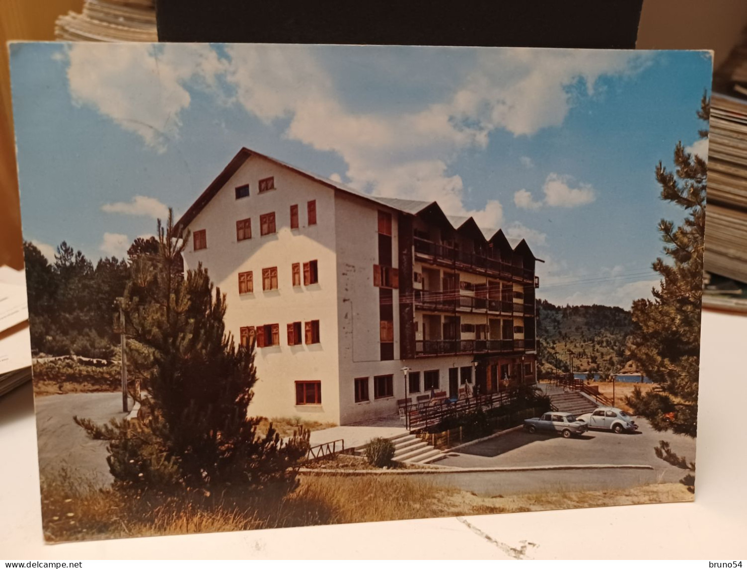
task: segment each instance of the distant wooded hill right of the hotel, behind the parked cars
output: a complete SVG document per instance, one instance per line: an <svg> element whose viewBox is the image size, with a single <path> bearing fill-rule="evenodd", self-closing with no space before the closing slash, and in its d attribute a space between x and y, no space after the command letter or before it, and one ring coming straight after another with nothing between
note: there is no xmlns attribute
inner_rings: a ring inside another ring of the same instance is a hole
<svg viewBox="0 0 747 569"><path fill-rule="evenodd" d="M556 306L539 300L537 338L539 370L569 371L568 351L574 352L574 372L630 370L625 345L633 330L630 311L616 306Z"/></svg>

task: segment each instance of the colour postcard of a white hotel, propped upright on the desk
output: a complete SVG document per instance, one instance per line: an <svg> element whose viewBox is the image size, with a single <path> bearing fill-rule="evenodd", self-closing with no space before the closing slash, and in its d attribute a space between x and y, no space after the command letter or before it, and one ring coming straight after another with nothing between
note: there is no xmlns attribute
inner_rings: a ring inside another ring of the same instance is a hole
<svg viewBox="0 0 747 569"><path fill-rule="evenodd" d="M10 65L48 541L692 500L710 52Z"/></svg>

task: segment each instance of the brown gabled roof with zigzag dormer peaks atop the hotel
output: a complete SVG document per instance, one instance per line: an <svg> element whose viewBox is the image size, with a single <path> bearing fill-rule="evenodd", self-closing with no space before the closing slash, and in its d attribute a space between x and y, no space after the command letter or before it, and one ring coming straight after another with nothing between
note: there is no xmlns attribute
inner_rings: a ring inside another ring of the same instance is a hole
<svg viewBox="0 0 747 569"><path fill-rule="evenodd" d="M286 164L285 162L279 161L276 158L260 154L259 152L255 152L254 150L248 149L246 147L242 147L241 150L236 153L229 164L225 168L223 168L223 171L217 175L217 177L211 182L211 184L207 188L205 188L205 191L199 195L199 197L192 205L190 205L190 208L187 209L185 214L182 215L182 217L176 223L176 227L178 229L181 229L192 223L199 212L202 211L202 209L205 208L206 205L208 205L208 202L210 202L210 200L215 197L220 189L226 185L229 179L231 179L232 175L238 172L238 169L241 168L244 163L252 156L259 156L260 158L264 158L265 160L274 162L275 164L279 164L282 167L288 168L288 170L302 175L304 178L309 178L311 180L317 181L320 184L331 188L332 190L339 190L345 193L350 193L353 196L358 196L359 198L365 199L369 202L374 202L378 205L383 205L387 208L400 211L403 214L409 214L412 216L418 216L421 214L426 214L429 216L435 215L442 223L445 222L448 224L448 226L453 228L454 231L470 234L471 236L478 239L482 237L486 243L497 243L501 249L505 249L505 247L508 246L508 249L516 250L519 248L519 246L521 246L520 252L522 255L527 255L528 253L537 261L542 261L542 259L537 259L536 257L534 257L534 254L532 253L529 245L527 245L527 242L525 240L522 239L517 246L512 247L506 239L506 236L503 234L503 231L501 231L500 229L498 231L495 231L495 229L481 228L477 225L474 218L472 217L447 215L443 210L441 210L441 206L438 205L437 202L424 202L418 199L399 199L372 196L371 194L360 192L359 190L347 186L346 184L342 184L341 182L333 181L329 178L324 178L323 176L314 174L313 172L306 172L306 170L301 170L298 167L291 166L291 164ZM491 237L488 237L489 235Z"/></svg>

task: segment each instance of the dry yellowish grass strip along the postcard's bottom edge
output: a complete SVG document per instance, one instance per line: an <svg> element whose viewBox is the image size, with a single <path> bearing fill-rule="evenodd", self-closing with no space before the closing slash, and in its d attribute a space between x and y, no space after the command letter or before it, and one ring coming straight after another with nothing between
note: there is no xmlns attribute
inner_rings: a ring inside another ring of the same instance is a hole
<svg viewBox="0 0 747 569"><path fill-rule="evenodd" d="M128 497L74 483L62 471L42 480L44 534L47 541L74 541L692 500L679 484L480 497L400 476L301 475L299 480L299 487L283 497L241 488Z"/></svg>

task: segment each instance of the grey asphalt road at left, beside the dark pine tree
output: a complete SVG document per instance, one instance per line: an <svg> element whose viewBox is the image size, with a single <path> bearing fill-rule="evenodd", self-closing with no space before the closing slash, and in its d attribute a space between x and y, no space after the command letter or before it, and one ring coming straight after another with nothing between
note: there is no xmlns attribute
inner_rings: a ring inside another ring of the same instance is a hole
<svg viewBox="0 0 747 569"><path fill-rule="evenodd" d="M129 407L131 408L130 400ZM72 420L74 415L107 423L123 418L122 394L66 394L37 397L37 436L39 469L42 476L55 476L68 470L75 479L86 479L98 486L112 481L106 463L106 442L92 441Z"/></svg>

